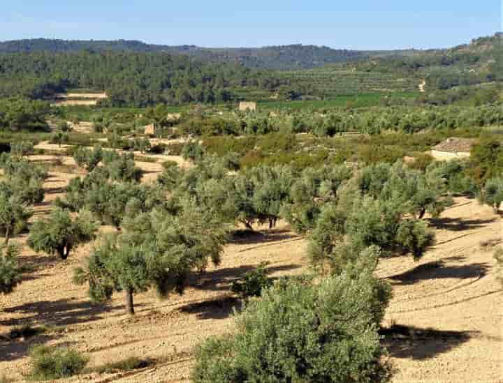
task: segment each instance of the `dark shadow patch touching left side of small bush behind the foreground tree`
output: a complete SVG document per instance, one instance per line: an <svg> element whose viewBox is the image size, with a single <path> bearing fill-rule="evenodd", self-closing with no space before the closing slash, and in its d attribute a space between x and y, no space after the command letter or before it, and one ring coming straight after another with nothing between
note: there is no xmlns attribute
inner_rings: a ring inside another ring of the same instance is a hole
<svg viewBox="0 0 503 383"><path fill-rule="evenodd" d="M189 303L178 310L184 314L196 314L198 319L224 319L234 310L242 308L242 301L235 296L223 296L210 301Z"/></svg>

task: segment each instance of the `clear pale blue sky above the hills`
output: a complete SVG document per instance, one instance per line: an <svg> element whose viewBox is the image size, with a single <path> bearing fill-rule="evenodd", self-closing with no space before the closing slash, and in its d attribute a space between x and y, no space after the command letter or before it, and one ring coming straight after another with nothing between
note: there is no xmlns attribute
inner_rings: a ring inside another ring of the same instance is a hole
<svg viewBox="0 0 503 383"><path fill-rule="evenodd" d="M143 40L167 45L450 47L502 31L503 0L12 0L0 40Z"/></svg>

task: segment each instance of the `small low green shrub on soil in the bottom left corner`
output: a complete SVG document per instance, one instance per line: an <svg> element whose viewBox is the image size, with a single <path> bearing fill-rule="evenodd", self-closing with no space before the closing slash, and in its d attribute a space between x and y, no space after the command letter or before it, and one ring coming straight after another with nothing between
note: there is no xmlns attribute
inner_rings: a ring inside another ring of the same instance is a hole
<svg viewBox="0 0 503 383"><path fill-rule="evenodd" d="M89 359L77 350L70 348L56 348L45 345L32 347L32 369L29 374L31 380L54 380L79 374Z"/></svg>

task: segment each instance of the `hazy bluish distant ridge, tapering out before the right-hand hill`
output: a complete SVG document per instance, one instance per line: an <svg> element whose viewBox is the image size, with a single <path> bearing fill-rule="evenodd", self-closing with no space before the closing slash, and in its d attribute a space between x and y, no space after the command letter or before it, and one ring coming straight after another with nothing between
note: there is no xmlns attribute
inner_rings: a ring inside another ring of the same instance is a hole
<svg viewBox="0 0 503 383"><path fill-rule="evenodd" d="M20 52L166 52L187 54L194 59L210 62L240 63L249 68L291 70L316 68L328 63L366 59L376 52L335 50L315 45L282 45L258 48L203 48L195 45L154 45L137 40L53 40L36 38L0 43L0 53Z"/></svg>

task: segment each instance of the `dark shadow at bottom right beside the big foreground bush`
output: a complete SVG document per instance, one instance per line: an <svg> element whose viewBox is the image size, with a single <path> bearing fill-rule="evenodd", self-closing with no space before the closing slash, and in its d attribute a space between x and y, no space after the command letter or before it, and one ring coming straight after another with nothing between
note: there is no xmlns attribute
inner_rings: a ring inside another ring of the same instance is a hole
<svg viewBox="0 0 503 383"><path fill-rule="evenodd" d="M391 356L424 360L459 347L478 332L420 329L394 324L388 329L380 329L379 334L383 336L381 344Z"/></svg>

